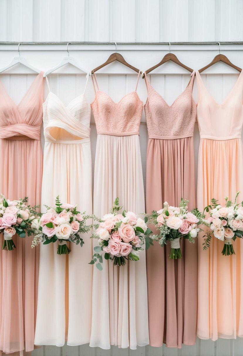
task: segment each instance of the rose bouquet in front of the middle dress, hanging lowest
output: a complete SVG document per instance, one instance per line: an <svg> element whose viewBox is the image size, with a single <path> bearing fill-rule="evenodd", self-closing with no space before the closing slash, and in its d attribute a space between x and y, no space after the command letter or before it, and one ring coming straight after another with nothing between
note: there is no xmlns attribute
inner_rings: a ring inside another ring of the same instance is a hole
<svg viewBox="0 0 243 356"><path fill-rule="evenodd" d="M132 211L124 210L122 214L119 214L121 208L119 198L116 198L113 209L99 220L99 227L91 236L99 239L99 246L94 247L96 253L89 264L96 263L100 271L103 269L102 251L105 260L112 260L115 266L124 266L126 260L139 260L139 251L144 250L144 243L146 249L150 245L148 235L152 231L148 229L145 220L138 218Z"/></svg>

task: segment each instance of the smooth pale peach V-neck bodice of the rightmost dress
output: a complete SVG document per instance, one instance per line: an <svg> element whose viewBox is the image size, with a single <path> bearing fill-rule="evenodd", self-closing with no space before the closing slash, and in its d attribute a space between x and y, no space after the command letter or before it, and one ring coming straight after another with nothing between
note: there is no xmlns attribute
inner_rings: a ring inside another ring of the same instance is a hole
<svg viewBox="0 0 243 356"><path fill-rule="evenodd" d="M196 77L199 94L197 121L200 137L211 140L241 138L243 124L242 72L232 91L221 105L208 93L198 71Z"/></svg>

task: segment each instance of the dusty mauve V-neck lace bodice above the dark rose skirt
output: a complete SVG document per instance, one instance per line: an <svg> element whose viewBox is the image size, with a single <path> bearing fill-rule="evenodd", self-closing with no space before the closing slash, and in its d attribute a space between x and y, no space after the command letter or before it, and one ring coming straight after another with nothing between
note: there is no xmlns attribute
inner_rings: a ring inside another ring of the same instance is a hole
<svg viewBox="0 0 243 356"><path fill-rule="evenodd" d="M149 138L182 138L193 136L196 120L196 103L192 98L195 72L186 89L168 105L151 86L145 73L148 99L144 105Z"/></svg>

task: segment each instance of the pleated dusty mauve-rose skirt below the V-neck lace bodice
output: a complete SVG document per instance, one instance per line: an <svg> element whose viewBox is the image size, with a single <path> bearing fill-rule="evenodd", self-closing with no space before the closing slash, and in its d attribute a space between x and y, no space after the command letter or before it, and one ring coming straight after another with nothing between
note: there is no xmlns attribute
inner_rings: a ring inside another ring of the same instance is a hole
<svg viewBox="0 0 243 356"><path fill-rule="evenodd" d="M193 137L149 138L147 149L146 212L167 201L178 206L189 199L195 207ZM156 232L154 230L154 232ZM197 240L181 241L182 258L169 258L170 244L157 242L146 251L149 338L151 346L182 347L196 342Z"/></svg>

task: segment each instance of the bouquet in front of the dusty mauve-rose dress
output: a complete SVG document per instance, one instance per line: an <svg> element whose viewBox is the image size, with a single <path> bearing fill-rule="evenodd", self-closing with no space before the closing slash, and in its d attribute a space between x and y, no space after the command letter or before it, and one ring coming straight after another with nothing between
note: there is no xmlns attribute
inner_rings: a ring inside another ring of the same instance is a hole
<svg viewBox="0 0 243 356"><path fill-rule="evenodd" d="M170 241L170 258L181 258L180 240L188 239L194 243L200 229L197 225L202 223L193 211L187 210L188 200L181 198L179 207L170 206L167 201L163 204L164 208L159 211L152 211L148 215L149 222L159 229L159 235L152 235L151 239L158 241L160 246L164 246L166 241Z"/></svg>

